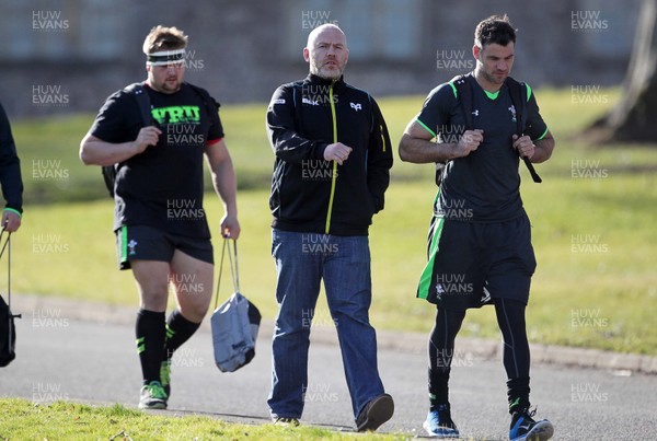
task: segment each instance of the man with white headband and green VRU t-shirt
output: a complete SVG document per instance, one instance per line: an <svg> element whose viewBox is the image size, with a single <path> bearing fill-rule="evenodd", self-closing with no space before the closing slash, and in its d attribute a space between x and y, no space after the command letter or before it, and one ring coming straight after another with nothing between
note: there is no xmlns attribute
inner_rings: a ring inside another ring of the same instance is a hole
<svg viewBox="0 0 657 441"><path fill-rule="evenodd" d="M114 167L114 231L120 269L140 295L140 408L162 409L173 351L200 326L212 295L210 230L203 208L204 156L223 201L221 234L240 234L235 174L218 104L183 82L187 36L157 26L143 42L147 80L112 94L82 139L84 164ZM145 109L145 106L147 107ZM177 307L165 320L169 287Z"/></svg>

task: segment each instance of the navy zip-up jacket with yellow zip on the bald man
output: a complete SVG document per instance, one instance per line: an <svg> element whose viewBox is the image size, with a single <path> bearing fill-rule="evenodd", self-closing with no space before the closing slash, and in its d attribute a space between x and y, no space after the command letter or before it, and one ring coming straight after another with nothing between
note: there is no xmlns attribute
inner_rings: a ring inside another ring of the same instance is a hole
<svg viewBox="0 0 657 441"><path fill-rule="evenodd" d="M376 101L343 81L309 74L279 86L267 111L276 155L269 208L283 231L367 235L383 209L392 150ZM334 142L353 149L338 165L324 160Z"/></svg>

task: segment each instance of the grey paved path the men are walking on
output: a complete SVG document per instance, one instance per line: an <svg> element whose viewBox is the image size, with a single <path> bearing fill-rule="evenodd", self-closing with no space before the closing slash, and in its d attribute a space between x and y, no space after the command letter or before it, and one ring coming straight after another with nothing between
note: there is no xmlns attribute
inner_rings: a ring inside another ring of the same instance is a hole
<svg viewBox="0 0 657 441"><path fill-rule="evenodd" d="M140 371L130 324L134 315L108 321L112 314L90 314L91 320L81 321L62 309L22 312L16 322L18 359L0 370L0 396L136 406ZM203 327L174 358L166 413L268 422L270 327L264 325L252 363L234 373L215 367L210 333ZM335 332L320 326L313 333L302 422L349 431L354 425ZM393 337L385 334L383 339ZM403 348L388 341L379 351L381 376L395 399L395 415L381 431L424 436L424 344L407 335L397 335L396 341ZM532 391L539 416L556 427L556 440L657 439L657 375L538 363L532 368ZM497 357L457 348L451 396L462 436L508 439L505 374Z"/></svg>

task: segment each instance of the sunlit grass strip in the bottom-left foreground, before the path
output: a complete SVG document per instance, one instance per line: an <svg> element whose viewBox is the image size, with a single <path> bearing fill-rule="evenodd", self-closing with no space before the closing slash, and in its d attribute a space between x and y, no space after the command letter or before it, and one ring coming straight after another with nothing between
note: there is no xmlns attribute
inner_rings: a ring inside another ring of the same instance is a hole
<svg viewBox="0 0 657 441"><path fill-rule="evenodd" d="M18 422L20 421L20 422ZM18 422L18 423L16 423ZM114 406L90 406L56 402L36 404L26 399L0 399L2 440L342 440L334 430L300 426L229 423L207 416L161 416ZM401 434L359 434L362 440L403 440Z"/></svg>

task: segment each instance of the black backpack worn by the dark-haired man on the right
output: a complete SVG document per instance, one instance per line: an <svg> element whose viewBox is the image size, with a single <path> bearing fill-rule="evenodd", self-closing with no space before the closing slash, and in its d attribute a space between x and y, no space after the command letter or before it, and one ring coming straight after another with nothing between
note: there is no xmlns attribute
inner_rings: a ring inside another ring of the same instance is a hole
<svg viewBox="0 0 657 441"><path fill-rule="evenodd" d="M459 100L459 104L460 104L461 108L463 109L463 116L465 117L465 130L472 130L474 128L474 125L472 123L472 108L473 108L473 102L474 102L474 96L472 93L472 84L470 83L466 76L457 76L450 82L453 83L453 85L457 88L457 97ZM523 115L525 115L525 111L527 109L527 98L523 98L523 96L527 96L527 85L525 83L520 83L520 82L516 81L511 77L507 77L506 83L507 83L507 86L509 88L509 95L511 96L511 103L514 104L514 107L516 108L516 120L517 120L516 135L518 135L520 137L520 136L522 136L522 132L525 131L525 123L526 121L523 120ZM533 182L534 183L543 182L543 179L541 179L541 176L539 176L535 169L533 167L533 164L529 161L529 159L522 158L522 161L525 162L525 165L527 165L527 169L529 170L529 174L531 174L531 178L533 179ZM445 170L445 162L437 162L436 163L436 185L437 186L440 186L440 183L442 182L442 171L443 170Z"/></svg>

